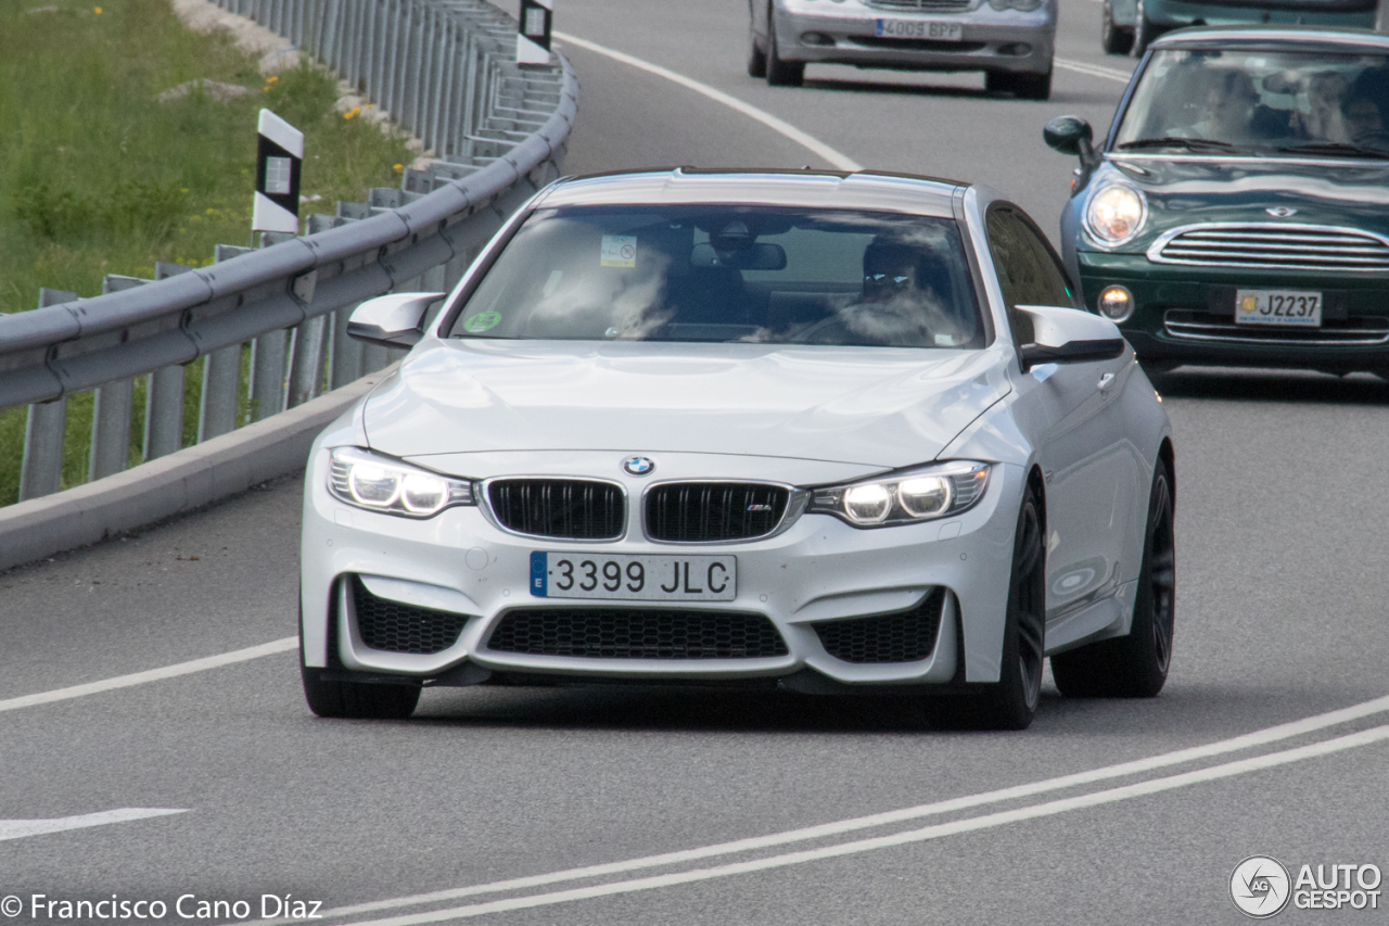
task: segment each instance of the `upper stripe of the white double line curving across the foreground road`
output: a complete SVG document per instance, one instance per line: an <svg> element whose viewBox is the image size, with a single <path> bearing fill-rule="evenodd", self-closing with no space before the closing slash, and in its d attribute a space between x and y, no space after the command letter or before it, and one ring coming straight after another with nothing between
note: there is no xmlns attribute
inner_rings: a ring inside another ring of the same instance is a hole
<svg viewBox="0 0 1389 926"><path fill-rule="evenodd" d="M1229 740L1220 740L1199 747L1188 747L1185 749L1176 749L1175 752L1164 752L1161 755L1149 756L1146 759L1133 759L1131 762L1121 762L1118 765L1090 769L1088 772L1076 772L1074 774L1063 774L1060 777L1045 779L1042 781L1032 781L1029 784L1018 784L1014 787L1000 788L997 791L985 791L982 794L950 798L947 801L938 801L935 804L922 804L918 806L910 806L900 811L888 811L883 813L874 813L871 816L836 820L833 823L822 823L820 826L810 826L799 830L789 830L785 833L774 833L770 836L757 836L743 840L735 840L732 843L720 843L717 845L706 845L693 850L683 850L679 852L665 852L663 855L650 855L646 858L636 858L624 862L608 862L604 865L571 868L567 870L550 872L546 875L532 875L528 877L515 877L504 882L492 882L489 884L454 887L442 891L432 891L428 894L415 894L410 897L357 904L353 907L340 907L338 909L325 911L324 916L354 916L358 913L371 913L383 909L396 909L400 907L418 907L424 904L460 900L464 897L476 897L481 894L499 894L503 891L513 891L528 887L542 887L546 884L575 882L589 877L603 877L607 875L625 875L628 872L636 872L647 868L678 865L682 862L696 862L700 859L715 858L720 855L733 855L738 852L749 852L753 850L786 845L789 843L801 843L806 840L825 838L831 836L839 836L843 833L853 833L857 830L889 826L893 823L903 823L907 820L921 819L925 816L936 816L953 811L970 809L986 804L997 804L1001 801L1011 801L1025 797L1033 797L1038 794L1046 794L1049 791L1060 791L1064 788L1078 787L1082 784L1093 784L1096 781L1118 779L1129 774L1153 772L1157 769L1174 765L1185 765L1188 762L1196 762L1200 759L1210 759L1218 755L1238 752L1242 749L1250 749L1253 747L1268 745L1271 742L1289 740L1292 737L1315 733L1317 730L1324 730L1326 727L1338 726L1342 723L1350 723L1351 720L1358 720L1367 716L1372 716L1375 713L1383 713L1386 710L1389 710L1389 697L1375 698L1374 701L1365 701L1357 705L1351 705L1349 708L1339 708L1336 710L1329 710L1326 713L1303 717L1301 720L1290 720L1288 723L1265 727L1263 730L1254 730L1251 733L1232 737ZM288 922L293 920L265 920L264 923L261 923L261 926L269 926L269 923L288 923Z"/></svg>

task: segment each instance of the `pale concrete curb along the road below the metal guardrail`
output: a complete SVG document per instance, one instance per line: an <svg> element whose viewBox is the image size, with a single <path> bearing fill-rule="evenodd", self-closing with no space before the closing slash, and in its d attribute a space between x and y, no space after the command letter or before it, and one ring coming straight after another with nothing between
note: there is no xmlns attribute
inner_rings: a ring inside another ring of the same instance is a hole
<svg viewBox="0 0 1389 926"><path fill-rule="evenodd" d="M396 364L96 482L0 509L0 570L86 546L301 470L318 432Z"/></svg>

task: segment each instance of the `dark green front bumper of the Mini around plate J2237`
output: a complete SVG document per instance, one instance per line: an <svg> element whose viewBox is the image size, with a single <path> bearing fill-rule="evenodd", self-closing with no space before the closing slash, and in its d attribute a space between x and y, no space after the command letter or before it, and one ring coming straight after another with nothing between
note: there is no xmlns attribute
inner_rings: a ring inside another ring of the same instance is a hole
<svg viewBox="0 0 1389 926"><path fill-rule="evenodd" d="M1306 270L1238 270L1156 264L1142 253L1078 253L1085 304L1097 311L1111 284L1136 309L1120 330L1145 363L1304 367L1329 373L1389 368L1389 279ZM1325 295L1322 327L1235 325L1236 288Z"/></svg>

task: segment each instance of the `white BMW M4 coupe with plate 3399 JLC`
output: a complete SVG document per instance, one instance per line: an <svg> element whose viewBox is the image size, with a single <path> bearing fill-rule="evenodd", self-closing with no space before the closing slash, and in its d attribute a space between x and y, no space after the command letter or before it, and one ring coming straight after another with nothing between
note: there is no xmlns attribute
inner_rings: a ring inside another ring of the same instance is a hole
<svg viewBox="0 0 1389 926"><path fill-rule="evenodd" d="M351 316L414 348L310 456L310 708L724 683L1022 729L1047 656L1064 694L1156 695L1171 428L1078 306L985 186L557 181L451 293Z"/></svg>

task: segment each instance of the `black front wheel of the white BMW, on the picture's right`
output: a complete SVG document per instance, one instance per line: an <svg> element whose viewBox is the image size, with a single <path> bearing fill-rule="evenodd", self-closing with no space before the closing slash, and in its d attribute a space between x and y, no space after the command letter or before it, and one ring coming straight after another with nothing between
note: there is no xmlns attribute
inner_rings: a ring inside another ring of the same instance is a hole
<svg viewBox="0 0 1389 926"><path fill-rule="evenodd" d="M933 726L974 730L1026 730L1042 695L1046 652L1046 553L1042 503L1029 485L1018 510L1013 539L1013 570L1003 628L999 681L975 695L928 702Z"/></svg>

